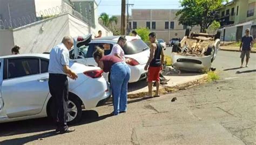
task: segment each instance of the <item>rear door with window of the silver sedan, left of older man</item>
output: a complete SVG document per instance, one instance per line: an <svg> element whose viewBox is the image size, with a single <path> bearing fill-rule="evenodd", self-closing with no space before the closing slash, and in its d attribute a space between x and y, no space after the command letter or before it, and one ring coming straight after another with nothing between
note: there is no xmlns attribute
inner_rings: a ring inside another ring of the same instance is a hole
<svg viewBox="0 0 256 145"><path fill-rule="evenodd" d="M8 118L40 113L49 93L48 60L19 57L4 62L1 89Z"/></svg>

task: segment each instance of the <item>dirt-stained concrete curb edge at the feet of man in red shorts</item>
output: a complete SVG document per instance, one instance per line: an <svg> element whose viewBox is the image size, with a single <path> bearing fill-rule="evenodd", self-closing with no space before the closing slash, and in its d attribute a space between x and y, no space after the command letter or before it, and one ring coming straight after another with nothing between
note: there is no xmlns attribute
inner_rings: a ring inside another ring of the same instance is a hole
<svg viewBox="0 0 256 145"><path fill-rule="evenodd" d="M207 79L207 75L205 75L202 78L195 79L194 81L190 81L190 82L183 83L183 84L178 84L175 86L162 85L163 88L159 89L159 93L160 93L160 95L165 95L166 93L170 93L170 92L174 92L174 91L178 91L178 90L186 90L187 88L190 88L192 86L196 86L196 85L206 82L206 79ZM153 92L155 92L155 91L153 91ZM146 95L147 95L147 92L139 92L139 93L129 94L129 95L127 95L127 98L129 98L129 99L141 98Z"/></svg>

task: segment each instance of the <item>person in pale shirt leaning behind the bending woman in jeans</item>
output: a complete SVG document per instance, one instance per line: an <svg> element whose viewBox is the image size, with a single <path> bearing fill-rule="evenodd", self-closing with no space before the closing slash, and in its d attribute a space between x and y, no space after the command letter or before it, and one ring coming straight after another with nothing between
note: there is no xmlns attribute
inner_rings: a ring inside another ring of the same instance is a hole
<svg viewBox="0 0 256 145"><path fill-rule="evenodd" d="M119 37L117 44L113 46L110 55L117 56L123 61L125 61L124 50L122 49L122 47L125 46L125 43L126 43L126 38L123 36Z"/></svg>

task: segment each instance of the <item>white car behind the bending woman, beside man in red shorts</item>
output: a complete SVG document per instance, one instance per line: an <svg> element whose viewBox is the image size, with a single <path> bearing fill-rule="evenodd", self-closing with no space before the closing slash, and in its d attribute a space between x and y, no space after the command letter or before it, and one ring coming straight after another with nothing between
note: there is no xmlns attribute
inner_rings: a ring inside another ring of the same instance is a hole
<svg viewBox="0 0 256 145"><path fill-rule="evenodd" d="M102 37L91 40L91 35L86 37L77 37L74 39L74 48L70 50L70 59L86 66L97 66L93 59L95 46L103 48L105 55L111 53L113 45L117 44L120 36ZM141 39L132 36L125 36L127 39L124 46L124 54L127 60L130 60L128 66L131 69L129 83L137 82L147 78L147 71L144 67L149 59L150 48ZM109 73L104 73L104 78L109 81Z"/></svg>

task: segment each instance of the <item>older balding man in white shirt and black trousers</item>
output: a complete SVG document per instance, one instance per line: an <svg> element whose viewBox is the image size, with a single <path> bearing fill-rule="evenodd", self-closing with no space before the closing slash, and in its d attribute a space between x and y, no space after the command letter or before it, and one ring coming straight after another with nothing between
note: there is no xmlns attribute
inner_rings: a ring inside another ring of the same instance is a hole
<svg viewBox="0 0 256 145"><path fill-rule="evenodd" d="M76 79L78 76L69 68L69 50L73 46L71 36L65 36L62 43L52 48L49 62L49 89L55 106L54 119L56 132L60 134L75 131L66 125L68 114L69 82L67 76Z"/></svg>

